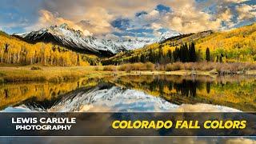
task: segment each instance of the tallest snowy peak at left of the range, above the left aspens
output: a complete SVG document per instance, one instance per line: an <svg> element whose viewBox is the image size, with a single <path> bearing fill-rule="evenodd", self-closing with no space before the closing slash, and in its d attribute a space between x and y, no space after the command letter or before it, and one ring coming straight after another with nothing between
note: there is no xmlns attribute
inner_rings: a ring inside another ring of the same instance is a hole
<svg viewBox="0 0 256 144"><path fill-rule="evenodd" d="M60 26L50 26L38 31L32 31L26 34L25 39L30 42L52 42L84 53L111 55L124 50L122 47L104 45L97 38L86 37L81 30L71 29L65 23ZM106 43L109 44L108 42Z"/></svg>

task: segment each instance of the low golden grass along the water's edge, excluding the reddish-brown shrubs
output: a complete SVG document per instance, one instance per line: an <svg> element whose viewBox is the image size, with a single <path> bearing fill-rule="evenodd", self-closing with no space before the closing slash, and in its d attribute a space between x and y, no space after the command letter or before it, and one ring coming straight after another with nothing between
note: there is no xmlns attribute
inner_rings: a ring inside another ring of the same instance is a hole
<svg viewBox="0 0 256 144"><path fill-rule="evenodd" d="M213 78L218 76L217 70L118 70L118 67L120 66L0 66L0 83L69 82L83 77L102 78L110 75L203 75ZM256 70L244 70L242 74L256 75Z"/></svg>

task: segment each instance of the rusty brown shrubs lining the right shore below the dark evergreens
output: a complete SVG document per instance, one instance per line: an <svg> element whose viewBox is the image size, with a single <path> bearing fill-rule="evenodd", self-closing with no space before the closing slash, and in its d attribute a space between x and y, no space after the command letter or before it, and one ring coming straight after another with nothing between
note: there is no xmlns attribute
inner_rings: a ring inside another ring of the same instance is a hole
<svg viewBox="0 0 256 144"><path fill-rule="evenodd" d="M98 68L97 68L98 70ZM201 70L201 71L217 71L218 74L238 74L244 73L246 70L256 70L256 64L246 62L219 63L219 62L174 62L166 65L154 65L153 63L127 63L121 66L103 66L103 71L126 71L132 70L160 70L160 71L176 71L176 70Z"/></svg>

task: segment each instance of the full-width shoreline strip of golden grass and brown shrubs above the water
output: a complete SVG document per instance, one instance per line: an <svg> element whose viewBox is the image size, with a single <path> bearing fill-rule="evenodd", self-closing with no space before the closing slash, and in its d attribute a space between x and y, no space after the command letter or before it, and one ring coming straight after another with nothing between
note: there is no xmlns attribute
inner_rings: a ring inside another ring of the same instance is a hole
<svg viewBox="0 0 256 144"><path fill-rule="evenodd" d="M252 63L176 62L167 65L129 63L121 66L0 66L0 83L7 82L68 82L82 77L110 75L256 75Z"/></svg>

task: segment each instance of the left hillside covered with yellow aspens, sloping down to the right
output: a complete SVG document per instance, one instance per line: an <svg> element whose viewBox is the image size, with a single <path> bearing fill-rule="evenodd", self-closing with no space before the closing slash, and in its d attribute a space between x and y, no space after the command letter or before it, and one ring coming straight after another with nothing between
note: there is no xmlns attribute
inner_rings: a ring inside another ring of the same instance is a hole
<svg viewBox="0 0 256 144"><path fill-rule="evenodd" d="M96 65L98 57L79 54L51 43L30 44L0 32L0 63L16 65L87 66Z"/></svg>

